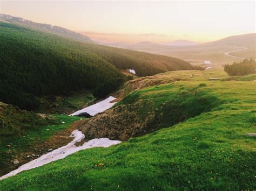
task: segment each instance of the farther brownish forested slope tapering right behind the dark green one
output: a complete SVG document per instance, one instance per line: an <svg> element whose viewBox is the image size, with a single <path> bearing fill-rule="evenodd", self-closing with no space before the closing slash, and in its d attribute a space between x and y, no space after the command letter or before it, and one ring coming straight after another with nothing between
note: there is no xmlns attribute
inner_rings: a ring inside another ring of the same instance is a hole
<svg viewBox="0 0 256 191"><path fill-rule="evenodd" d="M119 69L134 69L138 76L149 76L172 70L194 69L190 63L170 56L100 45L90 45L90 48Z"/></svg>

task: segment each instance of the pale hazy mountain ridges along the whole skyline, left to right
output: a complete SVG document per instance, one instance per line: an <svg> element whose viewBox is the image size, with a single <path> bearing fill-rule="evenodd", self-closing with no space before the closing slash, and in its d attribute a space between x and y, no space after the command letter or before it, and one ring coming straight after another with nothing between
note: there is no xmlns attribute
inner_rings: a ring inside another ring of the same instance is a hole
<svg viewBox="0 0 256 191"><path fill-rule="evenodd" d="M159 47L160 46L171 46L171 47L187 47L187 46L254 46L256 43L256 33L250 34L242 34L237 36L230 36L220 40L212 41L209 43L199 44L189 40L175 40L170 43L151 43L150 41L142 41L137 44L133 43L103 43L100 41L93 41L90 37L85 36L84 34L74 32L68 29L65 29L60 26L52 26L50 24L43 24L43 23L35 23L31 20L23 19L22 17L14 17L10 15L0 14L0 21L11 23L11 24L18 24L22 26L29 26L34 30L49 32L53 34L58 34L59 36L63 36L66 38L71 38L73 40L78 40L86 43L97 43L106 46L113 46L113 47L137 47L137 46L152 46L152 47ZM132 48L131 48L132 49Z"/></svg>

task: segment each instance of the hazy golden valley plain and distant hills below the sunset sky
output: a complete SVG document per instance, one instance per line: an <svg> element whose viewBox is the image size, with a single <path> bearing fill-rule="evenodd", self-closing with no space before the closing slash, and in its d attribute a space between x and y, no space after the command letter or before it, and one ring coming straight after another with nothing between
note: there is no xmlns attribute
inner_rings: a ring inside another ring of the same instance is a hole
<svg viewBox="0 0 256 191"><path fill-rule="evenodd" d="M226 52L241 51L232 53L231 55L239 56L245 59L256 58L256 33L242 34L239 36L231 36L209 43L198 44L187 40L176 40L171 43L154 44L151 42L140 42L137 44L129 43L102 43L98 44L107 46L132 49L136 51L148 52L153 54L161 54L173 56L186 60L194 65L200 65L205 60L211 60L215 65L225 65L239 61L238 58L225 55ZM243 49L244 48L244 49Z"/></svg>

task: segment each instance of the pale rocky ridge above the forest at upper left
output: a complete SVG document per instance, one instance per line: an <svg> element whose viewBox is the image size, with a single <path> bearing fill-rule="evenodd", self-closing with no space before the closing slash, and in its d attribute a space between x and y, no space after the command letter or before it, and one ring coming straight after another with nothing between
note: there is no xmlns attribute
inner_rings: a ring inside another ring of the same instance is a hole
<svg viewBox="0 0 256 191"><path fill-rule="evenodd" d="M28 27L31 27L33 30L39 30L39 31L49 32L52 34L58 34L59 36L71 38L73 40L78 40L86 43L94 43L90 37L87 37L78 32L65 29L60 26L52 26L49 24L35 23L35 22L32 22L31 20L26 20L21 17L13 17L5 14L0 14L0 21L5 23L28 26Z"/></svg>

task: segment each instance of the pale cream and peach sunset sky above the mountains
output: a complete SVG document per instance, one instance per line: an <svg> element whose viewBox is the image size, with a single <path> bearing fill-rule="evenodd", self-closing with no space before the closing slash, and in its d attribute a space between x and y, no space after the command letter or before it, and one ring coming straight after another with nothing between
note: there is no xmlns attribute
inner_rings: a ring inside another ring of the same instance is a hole
<svg viewBox="0 0 256 191"><path fill-rule="evenodd" d="M3 1L0 13L101 41L205 42L255 32L255 1Z"/></svg>

